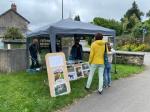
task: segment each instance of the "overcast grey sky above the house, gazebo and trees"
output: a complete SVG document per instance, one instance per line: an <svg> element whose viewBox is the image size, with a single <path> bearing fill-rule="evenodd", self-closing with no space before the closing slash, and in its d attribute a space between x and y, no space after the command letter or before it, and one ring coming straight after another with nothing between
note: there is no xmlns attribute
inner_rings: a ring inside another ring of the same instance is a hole
<svg viewBox="0 0 150 112"><path fill-rule="evenodd" d="M94 17L120 20L134 0L64 0L64 18L80 15L81 21ZM150 10L149 0L135 0L144 13ZM62 0L0 0L0 14L16 3L17 11L31 23L31 30L61 20Z"/></svg>

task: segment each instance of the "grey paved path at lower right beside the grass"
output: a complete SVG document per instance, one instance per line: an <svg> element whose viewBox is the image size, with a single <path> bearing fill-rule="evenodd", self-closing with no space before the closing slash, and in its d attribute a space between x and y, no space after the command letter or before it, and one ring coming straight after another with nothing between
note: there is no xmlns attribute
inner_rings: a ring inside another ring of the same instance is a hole
<svg viewBox="0 0 150 112"><path fill-rule="evenodd" d="M65 112L150 112L150 54L146 70L134 77L114 81L103 95L93 93Z"/></svg>

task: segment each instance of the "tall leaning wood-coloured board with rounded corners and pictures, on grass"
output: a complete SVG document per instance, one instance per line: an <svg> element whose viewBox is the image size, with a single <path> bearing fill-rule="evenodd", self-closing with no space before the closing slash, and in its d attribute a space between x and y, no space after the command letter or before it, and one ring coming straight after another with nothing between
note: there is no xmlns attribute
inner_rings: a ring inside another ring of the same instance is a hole
<svg viewBox="0 0 150 112"><path fill-rule="evenodd" d="M45 59L51 96L69 94L71 89L64 53L48 53Z"/></svg>

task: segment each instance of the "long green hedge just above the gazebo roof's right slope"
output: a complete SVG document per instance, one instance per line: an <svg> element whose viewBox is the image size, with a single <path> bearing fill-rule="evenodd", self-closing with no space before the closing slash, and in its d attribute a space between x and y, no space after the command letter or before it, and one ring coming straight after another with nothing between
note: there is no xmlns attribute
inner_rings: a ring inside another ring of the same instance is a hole
<svg viewBox="0 0 150 112"><path fill-rule="evenodd" d="M115 20L110 20L110 19L104 19L100 17L95 17L93 19L93 23L99 26L103 26L106 28L114 29L116 30L116 35L121 35L122 34L122 25L120 22L115 21Z"/></svg>

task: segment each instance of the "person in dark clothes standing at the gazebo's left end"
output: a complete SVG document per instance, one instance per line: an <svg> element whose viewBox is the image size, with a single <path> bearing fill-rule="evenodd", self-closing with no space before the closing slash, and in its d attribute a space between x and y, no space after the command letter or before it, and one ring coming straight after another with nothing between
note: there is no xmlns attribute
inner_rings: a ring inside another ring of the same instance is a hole
<svg viewBox="0 0 150 112"><path fill-rule="evenodd" d="M33 39L32 44L29 46L29 51L31 55L31 61L32 64L30 66L31 69L38 68L39 62L38 62L38 40Z"/></svg>

